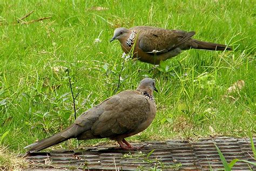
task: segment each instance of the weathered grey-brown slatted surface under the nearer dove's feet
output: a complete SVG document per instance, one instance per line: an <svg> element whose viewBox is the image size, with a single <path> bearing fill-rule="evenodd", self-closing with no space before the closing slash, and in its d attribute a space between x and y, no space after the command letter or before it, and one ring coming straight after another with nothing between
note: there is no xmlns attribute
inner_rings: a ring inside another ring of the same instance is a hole
<svg viewBox="0 0 256 171"><path fill-rule="evenodd" d="M256 138L253 139L256 144ZM35 153L26 159L33 168L44 169L90 169L90 170L209 170L223 168L217 149L219 147L226 160L237 158L256 162L252 156L250 139L219 137L201 139L197 142L167 140L132 143L139 151L127 151L117 146L97 146L75 151L52 151ZM154 151L153 151L154 150ZM152 154L149 155L149 153ZM256 166L250 165L252 170ZM232 170L250 170L247 163L237 162Z"/></svg>

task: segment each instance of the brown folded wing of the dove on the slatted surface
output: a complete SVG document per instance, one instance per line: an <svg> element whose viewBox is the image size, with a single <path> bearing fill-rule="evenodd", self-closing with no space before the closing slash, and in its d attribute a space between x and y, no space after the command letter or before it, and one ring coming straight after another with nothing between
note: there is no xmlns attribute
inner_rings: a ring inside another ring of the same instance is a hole
<svg viewBox="0 0 256 171"><path fill-rule="evenodd" d="M130 93L134 91L120 93L114 99L116 102L105 106L103 114L92 126L93 135L110 137L130 133L147 119L149 101L141 94L133 94L133 98L129 98Z"/></svg>

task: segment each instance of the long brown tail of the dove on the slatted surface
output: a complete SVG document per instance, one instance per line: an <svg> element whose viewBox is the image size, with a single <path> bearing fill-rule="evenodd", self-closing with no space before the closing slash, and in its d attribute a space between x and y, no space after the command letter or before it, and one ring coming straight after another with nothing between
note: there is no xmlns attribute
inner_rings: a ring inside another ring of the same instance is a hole
<svg viewBox="0 0 256 171"><path fill-rule="evenodd" d="M53 135L49 138L32 143L31 145L26 146L24 148L29 148L28 153L33 153L33 152L41 151L42 149L48 148L50 146L56 145L60 142L70 139L70 138L64 138L61 134L62 132L56 135Z"/></svg>

